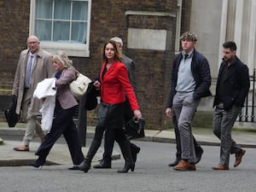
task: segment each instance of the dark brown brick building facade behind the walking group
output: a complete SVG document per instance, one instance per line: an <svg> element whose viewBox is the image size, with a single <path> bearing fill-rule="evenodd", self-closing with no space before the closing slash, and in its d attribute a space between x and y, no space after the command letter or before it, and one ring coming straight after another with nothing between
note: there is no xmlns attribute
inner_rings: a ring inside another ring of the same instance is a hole
<svg viewBox="0 0 256 192"><path fill-rule="evenodd" d="M189 29L191 0L184 2L181 32ZM29 35L29 10L29 0L0 0L0 94L2 95L10 94L20 51L26 48L26 38ZM125 14L127 11L137 13L146 11L149 14ZM154 15L155 12L169 13L169 15ZM164 112L170 86L172 58L175 53L176 15L177 0L93 0L90 15L90 56L70 57L74 67L93 79L101 67L102 45L113 36L122 38L125 55L136 62L137 96L147 122L147 129L165 129L169 124ZM129 28L165 30L166 49L128 48ZM97 110L87 113L88 125L95 125L96 112Z"/></svg>

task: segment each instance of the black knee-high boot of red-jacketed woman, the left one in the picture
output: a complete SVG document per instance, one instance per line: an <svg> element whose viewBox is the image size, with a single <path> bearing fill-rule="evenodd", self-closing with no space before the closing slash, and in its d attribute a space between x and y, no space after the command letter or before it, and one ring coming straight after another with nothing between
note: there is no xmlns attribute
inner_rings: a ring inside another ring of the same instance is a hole
<svg viewBox="0 0 256 192"><path fill-rule="evenodd" d="M82 162L82 165L79 166L79 170L88 172L90 170L90 163L94 155L96 154L98 148L100 147L101 142L98 142L96 140L93 140L92 143L90 144L89 151L84 158L84 161Z"/></svg>

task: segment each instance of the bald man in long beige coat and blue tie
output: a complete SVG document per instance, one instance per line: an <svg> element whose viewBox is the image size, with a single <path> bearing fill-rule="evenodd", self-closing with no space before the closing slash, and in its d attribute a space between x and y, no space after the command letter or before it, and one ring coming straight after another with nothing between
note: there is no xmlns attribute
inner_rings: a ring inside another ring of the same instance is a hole
<svg viewBox="0 0 256 192"><path fill-rule="evenodd" d="M29 143L35 132L44 142L44 131L41 130L37 120L41 104L32 95L38 82L52 77L55 73L51 55L40 48L38 37L34 35L28 37L26 44L28 49L20 53L12 91L12 94L17 96L16 113L20 114L21 122L26 123L23 143L14 148L16 151L29 151Z"/></svg>

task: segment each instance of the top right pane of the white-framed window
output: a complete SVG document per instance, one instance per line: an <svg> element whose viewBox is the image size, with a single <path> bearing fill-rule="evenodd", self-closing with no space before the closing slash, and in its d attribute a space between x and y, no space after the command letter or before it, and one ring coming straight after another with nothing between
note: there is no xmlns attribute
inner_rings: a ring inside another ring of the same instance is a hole
<svg viewBox="0 0 256 192"><path fill-rule="evenodd" d="M72 20L88 20L88 2L73 2Z"/></svg>

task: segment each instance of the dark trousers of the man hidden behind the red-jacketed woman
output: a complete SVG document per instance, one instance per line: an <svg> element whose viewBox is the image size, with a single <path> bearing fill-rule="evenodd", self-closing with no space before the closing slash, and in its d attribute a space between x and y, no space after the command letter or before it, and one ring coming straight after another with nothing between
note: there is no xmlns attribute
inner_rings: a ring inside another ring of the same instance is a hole
<svg viewBox="0 0 256 192"><path fill-rule="evenodd" d="M124 112L124 120L127 122L133 117L133 112L131 110L130 103L128 100L125 100L125 112ZM111 160L111 156L113 153L113 143L114 143L114 134L113 131L106 131L105 132L105 140L104 140L104 153L103 153L103 159L104 160ZM131 150L132 148L137 148L137 146L134 143L130 143Z"/></svg>

